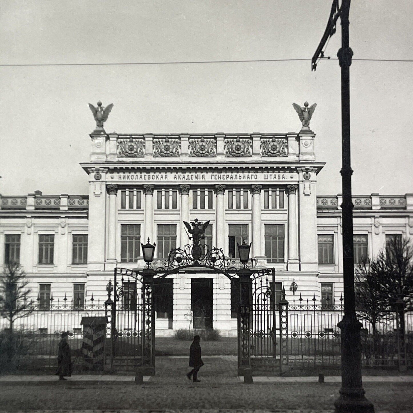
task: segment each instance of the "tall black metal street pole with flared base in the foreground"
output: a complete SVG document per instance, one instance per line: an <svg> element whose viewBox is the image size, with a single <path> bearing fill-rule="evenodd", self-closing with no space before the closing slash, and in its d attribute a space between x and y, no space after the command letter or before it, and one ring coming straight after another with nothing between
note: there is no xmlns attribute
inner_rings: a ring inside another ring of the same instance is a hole
<svg viewBox="0 0 413 413"><path fill-rule="evenodd" d="M341 67L341 121L342 121L342 221L343 221L343 278L344 317L338 326L341 330L342 387L334 402L336 413L374 412L373 404L366 399L361 380L361 323L356 317L354 294L353 257L353 203L351 199L350 157L350 65L353 51L349 47L349 10L351 0L342 0L340 22L342 46L337 53Z"/></svg>

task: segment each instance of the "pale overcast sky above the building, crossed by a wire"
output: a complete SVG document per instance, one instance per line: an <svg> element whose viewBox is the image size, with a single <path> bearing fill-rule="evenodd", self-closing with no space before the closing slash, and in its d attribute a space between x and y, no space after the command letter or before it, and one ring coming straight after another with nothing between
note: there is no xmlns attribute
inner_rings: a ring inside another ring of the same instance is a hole
<svg viewBox="0 0 413 413"><path fill-rule="evenodd" d="M189 62L311 58L328 0L30 0L0 2L0 63ZM413 59L411 0L353 1L354 58ZM326 55L336 57L341 28ZM353 61L353 193L413 192L411 62ZM311 120L319 195L341 192L337 60L119 66L0 67L0 192L87 194L95 122L109 133L297 132Z"/></svg>

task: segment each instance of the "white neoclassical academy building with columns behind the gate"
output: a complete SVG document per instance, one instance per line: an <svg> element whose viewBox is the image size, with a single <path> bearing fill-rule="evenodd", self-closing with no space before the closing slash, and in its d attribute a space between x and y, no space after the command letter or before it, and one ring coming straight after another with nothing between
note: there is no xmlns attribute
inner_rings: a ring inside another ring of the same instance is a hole
<svg viewBox="0 0 413 413"><path fill-rule="evenodd" d="M81 163L88 195L2 195L0 263L18 261L33 297L107 298L115 267L142 268L188 244L183 221L210 221L205 244L252 266L273 267L278 297L338 301L342 291L341 196L317 196L315 134L119 134L97 126ZM355 261L387 237L413 234L413 194L354 196ZM159 264L160 265L160 264ZM128 282L128 281L124 281ZM290 288L295 285L295 288ZM159 283L157 335L178 328L237 334L236 287L224 275L180 272ZM330 301L331 302L331 301Z"/></svg>

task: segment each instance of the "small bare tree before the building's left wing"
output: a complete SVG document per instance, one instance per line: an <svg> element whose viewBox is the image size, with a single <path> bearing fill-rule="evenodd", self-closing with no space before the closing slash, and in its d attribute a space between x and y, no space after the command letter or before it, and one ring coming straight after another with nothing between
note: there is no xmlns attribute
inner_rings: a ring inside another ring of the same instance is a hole
<svg viewBox="0 0 413 413"><path fill-rule="evenodd" d="M25 278L20 264L15 262L7 263L0 276L0 316L9 321L10 337L14 321L34 311L33 300L28 299L31 290L26 288L28 281Z"/></svg>

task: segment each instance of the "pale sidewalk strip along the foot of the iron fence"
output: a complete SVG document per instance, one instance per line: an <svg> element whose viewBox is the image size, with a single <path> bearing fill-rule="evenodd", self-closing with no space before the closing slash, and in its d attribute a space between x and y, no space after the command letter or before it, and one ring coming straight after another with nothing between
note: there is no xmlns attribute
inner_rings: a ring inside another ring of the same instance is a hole
<svg viewBox="0 0 413 413"><path fill-rule="evenodd" d="M150 382L154 379L152 376L143 376L144 382ZM67 382L131 382L133 383L135 376L133 375L72 375L67 377ZM243 376L237 376L238 382L244 382ZM56 375L45 376L29 376L29 375L5 375L0 376L0 383L15 383L15 382L58 382ZM271 376L254 376L254 383L285 383L285 382L301 382L301 383L316 383L318 377L271 377ZM328 383L341 382L341 376L325 376L324 381ZM364 376L363 382L396 382L396 383L413 383L413 376Z"/></svg>

